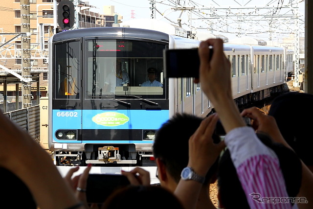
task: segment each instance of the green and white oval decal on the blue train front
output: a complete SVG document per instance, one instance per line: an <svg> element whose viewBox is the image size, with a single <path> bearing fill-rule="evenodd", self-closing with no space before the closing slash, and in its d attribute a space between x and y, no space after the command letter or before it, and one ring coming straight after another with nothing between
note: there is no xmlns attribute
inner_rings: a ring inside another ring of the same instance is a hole
<svg viewBox="0 0 313 209"><path fill-rule="evenodd" d="M93 116L92 121L104 126L118 126L127 123L129 117L121 113L106 112Z"/></svg>

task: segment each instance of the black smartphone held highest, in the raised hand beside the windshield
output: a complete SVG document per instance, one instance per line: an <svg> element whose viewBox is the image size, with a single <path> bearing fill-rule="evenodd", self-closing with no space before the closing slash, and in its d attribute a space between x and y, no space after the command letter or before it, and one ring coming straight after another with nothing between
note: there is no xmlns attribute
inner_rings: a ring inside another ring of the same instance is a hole
<svg viewBox="0 0 313 209"><path fill-rule="evenodd" d="M198 48L164 50L163 61L164 75L167 78L199 78Z"/></svg>

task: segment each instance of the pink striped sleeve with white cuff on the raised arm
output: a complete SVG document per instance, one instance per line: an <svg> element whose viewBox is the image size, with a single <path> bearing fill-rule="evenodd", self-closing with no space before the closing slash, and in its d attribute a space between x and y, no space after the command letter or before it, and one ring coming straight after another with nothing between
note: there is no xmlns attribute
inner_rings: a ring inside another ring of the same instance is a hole
<svg viewBox="0 0 313 209"><path fill-rule="evenodd" d="M225 143L236 167L241 186L251 209L291 209L291 203L279 203L288 197L279 161L251 127L231 130Z"/></svg>

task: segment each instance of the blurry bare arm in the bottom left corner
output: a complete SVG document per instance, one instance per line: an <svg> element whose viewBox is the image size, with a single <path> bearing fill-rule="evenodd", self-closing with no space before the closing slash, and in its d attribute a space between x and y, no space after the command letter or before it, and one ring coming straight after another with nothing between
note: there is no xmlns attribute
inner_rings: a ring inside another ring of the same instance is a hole
<svg viewBox="0 0 313 209"><path fill-rule="evenodd" d="M38 206L67 209L76 205L75 209L83 209L47 152L1 112L0 124L0 166L28 186Z"/></svg>

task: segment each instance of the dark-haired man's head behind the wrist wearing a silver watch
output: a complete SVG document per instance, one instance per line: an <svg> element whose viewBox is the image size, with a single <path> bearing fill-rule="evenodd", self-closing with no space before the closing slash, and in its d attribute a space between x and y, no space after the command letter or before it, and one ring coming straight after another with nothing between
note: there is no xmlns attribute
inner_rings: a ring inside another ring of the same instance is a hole
<svg viewBox="0 0 313 209"><path fill-rule="evenodd" d="M188 164L189 138L200 126L201 121L201 117L177 114L163 123L156 132L153 151L158 165L158 178L162 186L175 190L173 186L177 186L180 180L180 173ZM216 135L213 136L213 139L215 143L220 141L220 138ZM211 181L215 181L217 163L218 159L208 171L205 178L205 186L211 183Z"/></svg>

